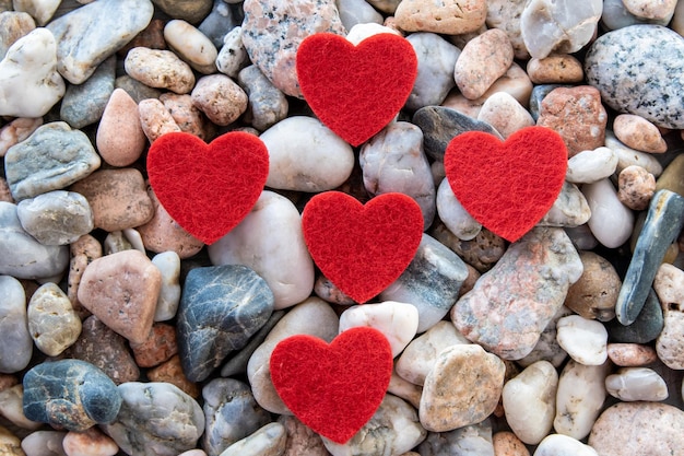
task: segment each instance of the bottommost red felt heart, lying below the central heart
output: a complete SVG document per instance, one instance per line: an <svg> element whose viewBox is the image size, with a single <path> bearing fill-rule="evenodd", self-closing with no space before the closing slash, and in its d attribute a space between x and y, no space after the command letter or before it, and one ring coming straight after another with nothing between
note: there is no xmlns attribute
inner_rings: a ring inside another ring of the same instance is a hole
<svg viewBox="0 0 684 456"><path fill-rule="evenodd" d="M307 335L275 346L271 379L311 430L343 444L373 418L392 376L392 350L377 329L355 327L328 344Z"/></svg>

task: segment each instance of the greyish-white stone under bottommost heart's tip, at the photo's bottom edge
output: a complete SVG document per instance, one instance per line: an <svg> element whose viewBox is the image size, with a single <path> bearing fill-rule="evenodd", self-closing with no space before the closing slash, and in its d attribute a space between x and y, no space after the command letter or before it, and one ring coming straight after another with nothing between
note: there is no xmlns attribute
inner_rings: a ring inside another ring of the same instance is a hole
<svg viewBox="0 0 684 456"><path fill-rule="evenodd" d="M418 422L415 409L404 400L385 395L373 418L345 444L322 437L332 456L357 454L401 455L425 440L427 431Z"/></svg>

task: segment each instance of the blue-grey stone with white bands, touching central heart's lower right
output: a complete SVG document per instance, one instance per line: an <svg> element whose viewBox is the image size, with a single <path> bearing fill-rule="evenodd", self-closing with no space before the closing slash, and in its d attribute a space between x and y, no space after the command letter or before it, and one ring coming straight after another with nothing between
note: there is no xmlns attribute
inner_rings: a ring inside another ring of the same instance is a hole
<svg viewBox="0 0 684 456"><path fill-rule="evenodd" d="M413 260L380 293L380 299L413 304L418 309L417 331L423 332L447 315L467 278L463 260L434 237L423 234Z"/></svg>

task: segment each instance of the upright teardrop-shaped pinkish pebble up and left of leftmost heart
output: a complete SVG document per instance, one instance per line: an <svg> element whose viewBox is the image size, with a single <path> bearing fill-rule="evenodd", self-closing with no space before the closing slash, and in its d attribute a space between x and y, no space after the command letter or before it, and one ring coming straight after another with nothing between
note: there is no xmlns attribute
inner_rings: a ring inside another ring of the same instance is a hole
<svg viewBox="0 0 684 456"><path fill-rule="evenodd" d="M148 144L138 104L123 89L115 89L97 126L97 152L111 166L134 163Z"/></svg>

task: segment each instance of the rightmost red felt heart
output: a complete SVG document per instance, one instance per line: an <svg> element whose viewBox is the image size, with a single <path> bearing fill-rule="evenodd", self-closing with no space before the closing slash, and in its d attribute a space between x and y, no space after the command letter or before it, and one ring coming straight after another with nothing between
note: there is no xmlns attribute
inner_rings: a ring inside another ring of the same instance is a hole
<svg viewBox="0 0 684 456"><path fill-rule="evenodd" d="M447 147L444 165L463 208L490 231L515 242L555 202L567 157L558 133L527 127L505 142L482 131L461 133Z"/></svg>

